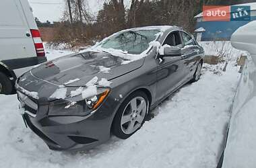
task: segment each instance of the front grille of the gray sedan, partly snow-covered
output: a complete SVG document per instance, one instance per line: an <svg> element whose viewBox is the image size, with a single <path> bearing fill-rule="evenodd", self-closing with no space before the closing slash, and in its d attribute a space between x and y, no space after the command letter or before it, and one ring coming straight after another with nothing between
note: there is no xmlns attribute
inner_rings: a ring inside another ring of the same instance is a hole
<svg viewBox="0 0 256 168"><path fill-rule="evenodd" d="M32 97L28 97L27 95L24 95L24 93L18 92L18 98L22 105L24 106L25 110L30 112L31 114L36 115L36 112L38 110L37 101L33 99Z"/></svg>

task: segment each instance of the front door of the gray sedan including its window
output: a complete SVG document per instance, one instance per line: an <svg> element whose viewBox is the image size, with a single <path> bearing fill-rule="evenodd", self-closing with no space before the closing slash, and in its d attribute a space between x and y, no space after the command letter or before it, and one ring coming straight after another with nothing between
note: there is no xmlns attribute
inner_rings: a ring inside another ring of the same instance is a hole
<svg viewBox="0 0 256 168"><path fill-rule="evenodd" d="M162 46L165 44L182 47L180 32L170 32ZM158 60L156 99L160 100L183 83L185 62L182 56L158 56Z"/></svg>

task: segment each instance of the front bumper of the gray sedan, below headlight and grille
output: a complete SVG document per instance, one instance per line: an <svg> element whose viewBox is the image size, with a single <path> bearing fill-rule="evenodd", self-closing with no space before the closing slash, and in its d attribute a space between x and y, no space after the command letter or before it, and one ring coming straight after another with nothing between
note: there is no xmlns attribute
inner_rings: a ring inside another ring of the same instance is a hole
<svg viewBox="0 0 256 168"><path fill-rule="evenodd" d="M20 97L19 100L21 101ZM31 103L29 106L32 107ZM109 110L108 106L100 106L88 116L48 116L47 103L39 103L38 110L32 110L30 107L24 106L26 125L46 142L49 149L55 151L91 149L110 138L110 128L115 113Z"/></svg>

